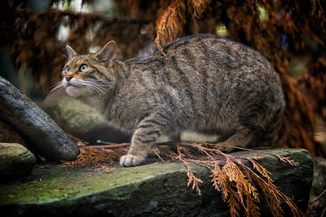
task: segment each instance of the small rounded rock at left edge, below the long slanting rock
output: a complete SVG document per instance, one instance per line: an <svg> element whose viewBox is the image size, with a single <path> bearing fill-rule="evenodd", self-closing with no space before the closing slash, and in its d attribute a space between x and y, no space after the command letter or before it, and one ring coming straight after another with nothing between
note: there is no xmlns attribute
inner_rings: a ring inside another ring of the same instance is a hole
<svg viewBox="0 0 326 217"><path fill-rule="evenodd" d="M2 182L28 175L35 163L34 154L21 144L0 143L0 177Z"/></svg>

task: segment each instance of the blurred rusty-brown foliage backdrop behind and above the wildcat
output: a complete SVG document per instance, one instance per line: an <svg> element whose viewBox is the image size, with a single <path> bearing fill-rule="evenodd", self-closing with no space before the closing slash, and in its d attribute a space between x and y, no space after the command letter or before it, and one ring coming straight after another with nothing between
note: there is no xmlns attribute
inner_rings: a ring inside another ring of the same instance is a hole
<svg viewBox="0 0 326 217"><path fill-rule="evenodd" d="M144 56L195 33L246 44L280 74L287 107L282 143L325 156L325 0L21 0L0 9L0 75L32 99L60 81L65 45L96 52L110 40L119 59ZM321 127L320 127L321 126Z"/></svg>

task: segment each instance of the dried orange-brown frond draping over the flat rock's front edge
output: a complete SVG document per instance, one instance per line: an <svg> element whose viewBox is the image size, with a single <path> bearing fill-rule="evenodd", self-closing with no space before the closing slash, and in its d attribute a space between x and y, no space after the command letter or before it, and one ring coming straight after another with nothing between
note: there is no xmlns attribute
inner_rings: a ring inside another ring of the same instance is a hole
<svg viewBox="0 0 326 217"><path fill-rule="evenodd" d="M225 154L222 151L215 149L218 145L209 143L198 144L193 142L181 142L177 145L192 146L204 153L210 159L208 162L200 162L199 165L211 167L210 177L212 178L212 185L217 191L222 193L223 201L229 204L231 216L239 216L240 207L243 207L244 210L246 210L247 216L260 215L259 207L257 205L260 200L257 188L255 187L255 182L257 182L262 189L273 216L283 216L283 209L281 207L282 200L284 200L291 208L293 216L304 216L304 213L298 209L298 207L284 193L277 189L273 180L269 177L269 172L257 162L260 158L246 158L233 156L232 154ZM258 150L251 151L263 153L263 151ZM277 154L273 155L277 156ZM277 157L283 162L297 166L296 162L288 158L281 156ZM182 162L192 162L197 164L197 162L192 161L192 159L184 158L182 153L179 154L179 159L182 159ZM254 172L239 159L251 162L258 173ZM221 164L223 166L220 166ZM191 169L191 167L187 166L188 171L189 168ZM188 172L188 174L188 180L194 182L193 186L198 186L198 181L196 177L194 177L194 174L192 172Z"/></svg>

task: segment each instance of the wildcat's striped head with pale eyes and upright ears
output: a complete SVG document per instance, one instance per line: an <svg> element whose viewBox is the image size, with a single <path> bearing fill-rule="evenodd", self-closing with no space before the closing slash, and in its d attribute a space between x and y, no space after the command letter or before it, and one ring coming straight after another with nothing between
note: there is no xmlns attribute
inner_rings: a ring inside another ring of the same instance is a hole
<svg viewBox="0 0 326 217"><path fill-rule="evenodd" d="M69 45L66 49L68 61L62 71L61 84L70 96L105 95L114 88L116 42L108 42L95 54L79 55Z"/></svg>

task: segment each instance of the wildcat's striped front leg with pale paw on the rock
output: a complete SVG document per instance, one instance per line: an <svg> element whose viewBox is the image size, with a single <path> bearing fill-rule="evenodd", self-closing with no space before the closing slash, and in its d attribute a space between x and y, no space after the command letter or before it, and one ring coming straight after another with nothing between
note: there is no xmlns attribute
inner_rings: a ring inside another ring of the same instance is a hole
<svg viewBox="0 0 326 217"><path fill-rule="evenodd" d="M167 126L164 115L151 115L144 118L135 130L128 153L120 158L120 165L132 167L141 165L147 157L147 153L157 138Z"/></svg>

